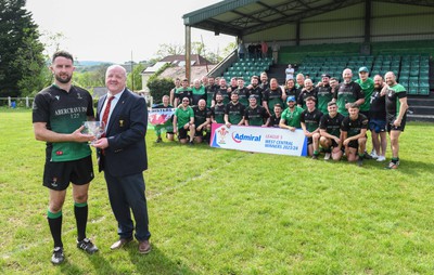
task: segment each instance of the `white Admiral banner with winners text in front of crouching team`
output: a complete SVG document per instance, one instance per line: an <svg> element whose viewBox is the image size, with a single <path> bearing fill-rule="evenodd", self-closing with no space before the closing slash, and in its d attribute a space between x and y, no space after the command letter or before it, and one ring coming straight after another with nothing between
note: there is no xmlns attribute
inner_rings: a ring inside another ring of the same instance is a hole
<svg viewBox="0 0 434 275"><path fill-rule="evenodd" d="M290 156L307 155L307 139L303 130L213 123L212 147L269 153Z"/></svg>

